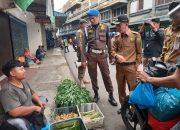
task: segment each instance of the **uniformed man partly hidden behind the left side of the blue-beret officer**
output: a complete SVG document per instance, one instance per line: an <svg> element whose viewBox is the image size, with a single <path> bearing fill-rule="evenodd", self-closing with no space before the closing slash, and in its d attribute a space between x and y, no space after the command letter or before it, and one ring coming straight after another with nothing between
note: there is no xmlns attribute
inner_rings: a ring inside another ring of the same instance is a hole
<svg viewBox="0 0 180 130"><path fill-rule="evenodd" d="M89 81L84 79L85 71L86 71L86 44L87 38L85 35L85 28L87 26L87 21L85 19L81 19L80 22L80 29L76 33L77 38L77 57L78 62L81 62L81 66L78 67L78 79L80 82L81 87L85 87L85 83L90 83Z"/></svg>

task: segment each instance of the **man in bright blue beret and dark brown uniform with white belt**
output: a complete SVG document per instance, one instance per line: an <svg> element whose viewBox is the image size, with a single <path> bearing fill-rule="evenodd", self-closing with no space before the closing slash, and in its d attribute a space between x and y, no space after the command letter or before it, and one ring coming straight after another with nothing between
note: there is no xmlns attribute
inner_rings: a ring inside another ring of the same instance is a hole
<svg viewBox="0 0 180 130"><path fill-rule="evenodd" d="M88 72L92 82L92 88L94 90L94 102L99 100L99 86L97 83L97 65L100 68L102 78L106 91L109 93L109 99L111 105L117 106L117 102L113 97L113 86L110 79L110 72L108 66L108 53L111 57L111 42L109 37L109 28L107 25L100 23L99 11L96 9L90 9L87 12L91 25L87 27L87 61L88 61ZM109 58L111 62L111 58Z"/></svg>

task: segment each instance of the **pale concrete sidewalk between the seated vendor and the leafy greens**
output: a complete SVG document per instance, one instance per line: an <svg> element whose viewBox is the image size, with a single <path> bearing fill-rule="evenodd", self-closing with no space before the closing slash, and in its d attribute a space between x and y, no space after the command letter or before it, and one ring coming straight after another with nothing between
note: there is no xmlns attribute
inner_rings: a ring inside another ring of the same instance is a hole
<svg viewBox="0 0 180 130"><path fill-rule="evenodd" d="M31 64L26 69L26 80L38 95L45 96L49 100L45 109L45 115L48 119L51 110L55 108L54 97L57 86L61 80L66 78L73 80L64 55L57 48L47 51L47 57L44 58L42 64Z"/></svg>

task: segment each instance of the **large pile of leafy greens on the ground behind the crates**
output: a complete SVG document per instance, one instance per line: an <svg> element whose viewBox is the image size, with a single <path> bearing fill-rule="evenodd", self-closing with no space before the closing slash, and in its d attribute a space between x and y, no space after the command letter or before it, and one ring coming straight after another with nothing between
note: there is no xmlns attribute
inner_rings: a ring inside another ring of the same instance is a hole
<svg viewBox="0 0 180 130"><path fill-rule="evenodd" d="M75 81L65 79L58 86L55 97L57 107L75 106L91 101L90 92L85 88L81 88Z"/></svg>

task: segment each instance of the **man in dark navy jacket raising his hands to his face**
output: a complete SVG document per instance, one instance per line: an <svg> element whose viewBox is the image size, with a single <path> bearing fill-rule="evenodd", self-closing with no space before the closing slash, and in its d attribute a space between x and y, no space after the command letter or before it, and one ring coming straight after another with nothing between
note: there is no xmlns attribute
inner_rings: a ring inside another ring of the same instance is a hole
<svg viewBox="0 0 180 130"><path fill-rule="evenodd" d="M145 32L145 28L149 27L151 30ZM143 64L147 65L152 57L160 57L162 53L164 31L160 29L160 19L154 18L145 21L140 29L142 39L144 40Z"/></svg>

